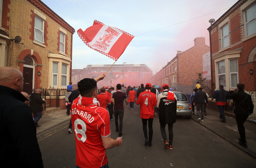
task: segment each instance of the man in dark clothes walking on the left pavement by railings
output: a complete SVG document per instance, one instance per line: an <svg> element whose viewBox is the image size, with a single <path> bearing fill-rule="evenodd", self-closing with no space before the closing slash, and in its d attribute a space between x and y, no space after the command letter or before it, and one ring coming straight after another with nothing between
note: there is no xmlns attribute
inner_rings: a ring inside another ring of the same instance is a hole
<svg viewBox="0 0 256 168"><path fill-rule="evenodd" d="M30 96L29 103L30 109L33 112L34 124L36 127L40 127L40 125L38 125L38 121L43 115L43 103L45 103L45 100L41 97L41 89L37 88Z"/></svg>

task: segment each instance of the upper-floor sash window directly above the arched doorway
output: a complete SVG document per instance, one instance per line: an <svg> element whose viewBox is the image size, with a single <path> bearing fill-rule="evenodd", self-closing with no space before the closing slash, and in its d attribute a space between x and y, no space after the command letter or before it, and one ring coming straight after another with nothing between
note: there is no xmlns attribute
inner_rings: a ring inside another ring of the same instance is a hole
<svg viewBox="0 0 256 168"><path fill-rule="evenodd" d="M44 43L44 20L36 15L34 17L34 39Z"/></svg>

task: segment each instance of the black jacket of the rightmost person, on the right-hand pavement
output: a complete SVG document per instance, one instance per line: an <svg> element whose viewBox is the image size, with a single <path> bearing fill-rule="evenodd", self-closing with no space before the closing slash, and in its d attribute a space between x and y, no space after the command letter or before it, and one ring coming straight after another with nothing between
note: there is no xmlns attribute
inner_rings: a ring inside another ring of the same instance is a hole
<svg viewBox="0 0 256 168"><path fill-rule="evenodd" d="M231 90L228 92L227 98L232 98L234 100L235 113L253 113L254 105L252 103L251 96L243 90L238 90L238 92Z"/></svg>

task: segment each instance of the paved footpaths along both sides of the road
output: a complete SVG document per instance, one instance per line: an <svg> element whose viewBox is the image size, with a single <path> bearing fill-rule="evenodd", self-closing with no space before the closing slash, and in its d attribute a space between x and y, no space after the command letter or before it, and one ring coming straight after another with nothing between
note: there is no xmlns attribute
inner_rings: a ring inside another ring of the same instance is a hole
<svg viewBox="0 0 256 168"><path fill-rule="evenodd" d="M66 109L54 111L43 115L39 120L38 124L40 127L37 128L37 134L43 133L48 129L53 129L55 126L65 123L70 120L71 116L67 116ZM239 132L237 130L236 119L234 114L226 113L226 123L220 122L219 115L220 113L215 110L206 108L207 116L204 116L203 122L197 121L197 116L192 115L192 119L201 124L203 127L209 129L217 136L220 136L222 139L234 145L236 148L250 155L252 158L256 159L256 122L248 120L244 123L246 141L248 148L243 148L238 144ZM68 126L68 123L67 123Z"/></svg>

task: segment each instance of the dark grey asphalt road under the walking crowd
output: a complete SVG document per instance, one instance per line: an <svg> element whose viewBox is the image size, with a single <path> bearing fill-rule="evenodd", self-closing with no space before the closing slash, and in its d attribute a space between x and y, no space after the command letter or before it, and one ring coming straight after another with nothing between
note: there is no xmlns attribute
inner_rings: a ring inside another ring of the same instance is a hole
<svg viewBox="0 0 256 168"><path fill-rule="evenodd" d="M68 122L38 135L45 168L75 168L74 134ZM255 168L256 160L216 136L192 119L178 117L174 124L173 150L165 150L160 124L153 122L153 146L144 146L139 106L125 107L123 144L107 150L110 168ZM167 128L166 128L167 129ZM111 122L111 137L116 138Z"/></svg>

